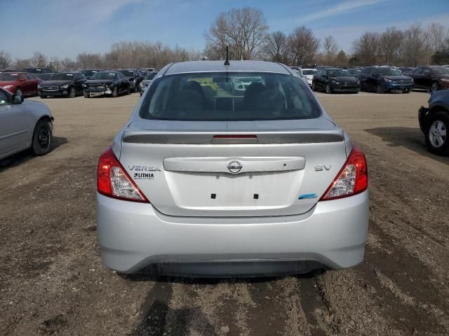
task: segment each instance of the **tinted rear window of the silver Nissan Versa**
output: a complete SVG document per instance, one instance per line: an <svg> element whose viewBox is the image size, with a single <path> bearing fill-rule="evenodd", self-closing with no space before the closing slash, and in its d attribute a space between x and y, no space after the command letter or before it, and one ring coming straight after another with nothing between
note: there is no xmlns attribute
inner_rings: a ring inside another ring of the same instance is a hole
<svg viewBox="0 0 449 336"><path fill-rule="evenodd" d="M180 73L157 78L140 117L159 120L283 120L321 116L314 94L281 73Z"/></svg>

